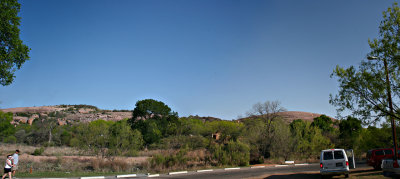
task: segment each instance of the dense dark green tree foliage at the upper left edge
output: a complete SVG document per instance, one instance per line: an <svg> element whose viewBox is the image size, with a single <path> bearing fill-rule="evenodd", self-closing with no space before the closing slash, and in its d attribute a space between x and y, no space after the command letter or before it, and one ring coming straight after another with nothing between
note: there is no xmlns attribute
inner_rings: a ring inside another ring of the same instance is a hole
<svg viewBox="0 0 400 179"><path fill-rule="evenodd" d="M0 1L0 84L9 85L14 81L14 72L29 60L28 46L19 38L21 5L17 0Z"/></svg>

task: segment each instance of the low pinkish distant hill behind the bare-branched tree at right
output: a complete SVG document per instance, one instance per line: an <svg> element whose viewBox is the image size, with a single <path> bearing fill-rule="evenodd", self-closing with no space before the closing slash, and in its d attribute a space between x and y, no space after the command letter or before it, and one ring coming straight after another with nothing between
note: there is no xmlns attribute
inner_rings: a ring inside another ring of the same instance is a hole
<svg viewBox="0 0 400 179"><path fill-rule="evenodd" d="M302 119L305 121L310 121L312 122L314 120L314 118L321 116L322 114L318 114L318 113L310 113L310 112L302 112L302 111L285 111L285 112L279 112L277 113L278 116L280 116L283 120L287 121L288 123L292 122L293 120L296 119ZM328 116L330 117L330 116ZM250 117L245 117L245 118L241 118L238 119L239 121L248 119ZM333 121L335 121L336 119L333 117L330 117Z"/></svg>

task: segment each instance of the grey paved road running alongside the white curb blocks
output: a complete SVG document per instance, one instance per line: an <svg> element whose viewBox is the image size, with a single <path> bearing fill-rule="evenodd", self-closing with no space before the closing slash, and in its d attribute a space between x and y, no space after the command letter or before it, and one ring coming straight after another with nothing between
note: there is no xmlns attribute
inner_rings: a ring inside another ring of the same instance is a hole
<svg viewBox="0 0 400 179"><path fill-rule="evenodd" d="M357 168L370 169L366 164L358 164ZM289 174L289 173L307 173L319 172L319 164L310 164L304 166L286 166L286 167L266 167L266 168L242 168L240 170L215 170L212 172L189 172L179 175L161 175L159 178L207 178L207 179L231 179L231 178L259 178L268 174ZM315 174L313 174L315 175ZM308 178L307 176L304 176ZM318 175L319 177L319 175Z"/></svg>

